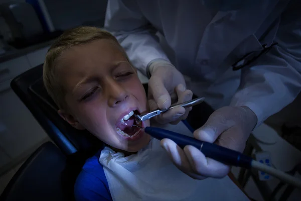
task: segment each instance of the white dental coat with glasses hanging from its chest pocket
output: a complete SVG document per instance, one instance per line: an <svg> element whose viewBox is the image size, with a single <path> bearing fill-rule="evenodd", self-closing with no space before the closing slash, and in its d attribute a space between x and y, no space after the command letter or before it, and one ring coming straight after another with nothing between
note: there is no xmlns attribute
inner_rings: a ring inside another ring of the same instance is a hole
<svg viewBox="0 0 301 201"><path fill-rule="evenodd" d="M248 2L236 11L214 11L201 0L109 0L105 29L142 73L154 59L170 60L213 108L247 106L258 126L300 91L301 3ZM165 38L161 44L157 31ZM268 53L232 71L238 59L273 41L278 45Z"/></svg>

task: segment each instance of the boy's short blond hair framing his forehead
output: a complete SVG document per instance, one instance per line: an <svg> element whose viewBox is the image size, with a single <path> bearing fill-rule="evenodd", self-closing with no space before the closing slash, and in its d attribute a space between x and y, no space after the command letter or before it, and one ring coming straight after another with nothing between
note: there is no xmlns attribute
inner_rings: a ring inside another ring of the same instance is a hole
<svg viewBox="0 0 301 201"><path fill-rule="evenodd" d="M60 84L57 68L62 53L74 46L83 45L99 39L108 39L117 44L126 56L116 38L107 31L95 27L77 27L64 32L50 47L43 66L43 81L49 95L60 109L68 110L65 103L65 88Z"/></svg>

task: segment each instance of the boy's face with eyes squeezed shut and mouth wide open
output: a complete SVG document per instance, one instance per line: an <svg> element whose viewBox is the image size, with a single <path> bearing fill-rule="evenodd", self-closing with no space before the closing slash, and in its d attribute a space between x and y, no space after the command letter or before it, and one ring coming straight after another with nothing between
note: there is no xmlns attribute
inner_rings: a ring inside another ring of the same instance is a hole
<svg viewBox="0 0 301 201"><path fill-rule="evenodd" d="M146 95L136 71L116 44L101 39L75 46L64 52L59 62L69 110L59 114L66 121L127 152L148 144L149 135L130 127L134 116L124 121L131 111L147 110ZM142 126L149 126L149 121Z"/></svg>

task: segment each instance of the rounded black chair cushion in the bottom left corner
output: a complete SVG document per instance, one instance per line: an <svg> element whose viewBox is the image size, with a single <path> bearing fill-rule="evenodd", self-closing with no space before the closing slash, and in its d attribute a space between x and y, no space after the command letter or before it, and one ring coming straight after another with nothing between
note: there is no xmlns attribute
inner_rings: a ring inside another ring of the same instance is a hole
<svg viewBox="0 0 301 201"><path fill-rule="evenodd" d="M13 176L0 200L69 200L62 175L66 156L51 142L43 144Z"/></svg>

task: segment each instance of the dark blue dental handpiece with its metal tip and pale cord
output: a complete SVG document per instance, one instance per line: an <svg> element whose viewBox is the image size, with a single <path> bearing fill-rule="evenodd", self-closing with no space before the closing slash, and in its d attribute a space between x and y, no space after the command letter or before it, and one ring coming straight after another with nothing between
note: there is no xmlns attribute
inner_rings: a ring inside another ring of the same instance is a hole
<svg viewBox="0 0 301 201"><path fill-rule="evenodd" d="M132 125L132 126L139 127L136 125ZM155 127L145 127L145 128L139 127L139 128L143 129L145 133L149 134L150 136L158 140L162 140L165 138L171 139L182 149L186 145L192 145L200 149L200 151L208 158L212 158L214 160L220 161L228 165L239 166L247 169L255 168L257 170L275 176L278 179L283 180L289 184L292 184L298 188L301 188L301 181L299 179L294 178L293 176L285 172L282 172L280 170L277 170L273 167L255 161L251 157L246 156L238 151L234 151L216 144L203 142L195 138L185 136L179 133L175 133L172 131L168 131L165 129L161 129L161 128L155 128Z"/></svg>

